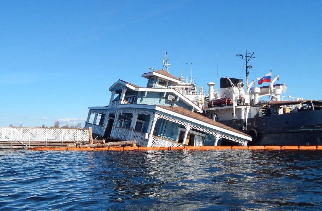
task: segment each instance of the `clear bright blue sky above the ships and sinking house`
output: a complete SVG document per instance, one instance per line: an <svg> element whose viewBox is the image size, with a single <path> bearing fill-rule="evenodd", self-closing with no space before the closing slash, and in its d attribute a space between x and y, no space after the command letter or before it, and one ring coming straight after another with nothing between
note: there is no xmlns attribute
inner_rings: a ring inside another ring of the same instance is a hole
<svg viewBox="0 0 322 211"><path fill-rule="evenodd" d="M0 1L0 127L84 124L118 79L190 76L197 86L272 70L284 96L322 99L322 1ZM217 72L218 67L218 72ZM257 85L258 86L258 85Z"/></svg>

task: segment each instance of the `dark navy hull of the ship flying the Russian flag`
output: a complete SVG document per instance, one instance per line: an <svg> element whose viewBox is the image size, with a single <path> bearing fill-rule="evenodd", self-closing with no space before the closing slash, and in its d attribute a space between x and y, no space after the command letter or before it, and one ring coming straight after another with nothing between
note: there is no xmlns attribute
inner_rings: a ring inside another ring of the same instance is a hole
<svg viewBox="0 0 322 211"><path fill-rule="evenodd" d="M316 146L322 145L322 110L262 116L243 120L218 121L250 134L249 146Z"/></svg>

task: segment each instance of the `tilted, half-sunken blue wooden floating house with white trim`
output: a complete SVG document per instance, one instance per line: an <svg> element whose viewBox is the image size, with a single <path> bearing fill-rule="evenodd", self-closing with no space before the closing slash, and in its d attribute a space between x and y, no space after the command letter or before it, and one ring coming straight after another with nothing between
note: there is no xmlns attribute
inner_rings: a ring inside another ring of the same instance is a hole
<svg viewBox="0 0 322 211"><path fill-rule="evenodd" d="M251 141L249 135L200 115L200 106L172 89L182 82L178 77L164 70L142 77L148 79L146 87L116 81L109 88L109 106L88 107L85 127L105 138L137 140L138 146L148 147L217 146L222 140L247 146Z"/></svg>

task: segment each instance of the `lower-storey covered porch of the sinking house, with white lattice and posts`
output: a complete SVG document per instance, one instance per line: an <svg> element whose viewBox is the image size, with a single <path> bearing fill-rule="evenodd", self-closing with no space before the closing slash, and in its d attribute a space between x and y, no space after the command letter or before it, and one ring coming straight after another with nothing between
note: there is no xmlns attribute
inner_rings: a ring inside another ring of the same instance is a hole
<svg viewBox="0 0 322 211"><path fill-rule="evenodd" d="M126 106L129 105L123 105L123 107ZM147 107L151 107L151 109ZM163 107L170 110L166 111ZM188 116L183 116L178 111L187 112ZM232 145L247 146L247 141L251 140L248 135L225 125L223 128L218 127L218 125L222 125L218 122L211 125L209 122L200 121L206 117L180 107L152 105L142 106L142 108L137 106L136 109L127 107L109 111L108 115L112 112L115 113L115 119L110 129L109 138L137 140L138 146L217 146L221 144L221 139L232 142ZM206 120L212 121L208 118ZM105 133L109 133L109 129L106 128L106 130Z"/></svg>

